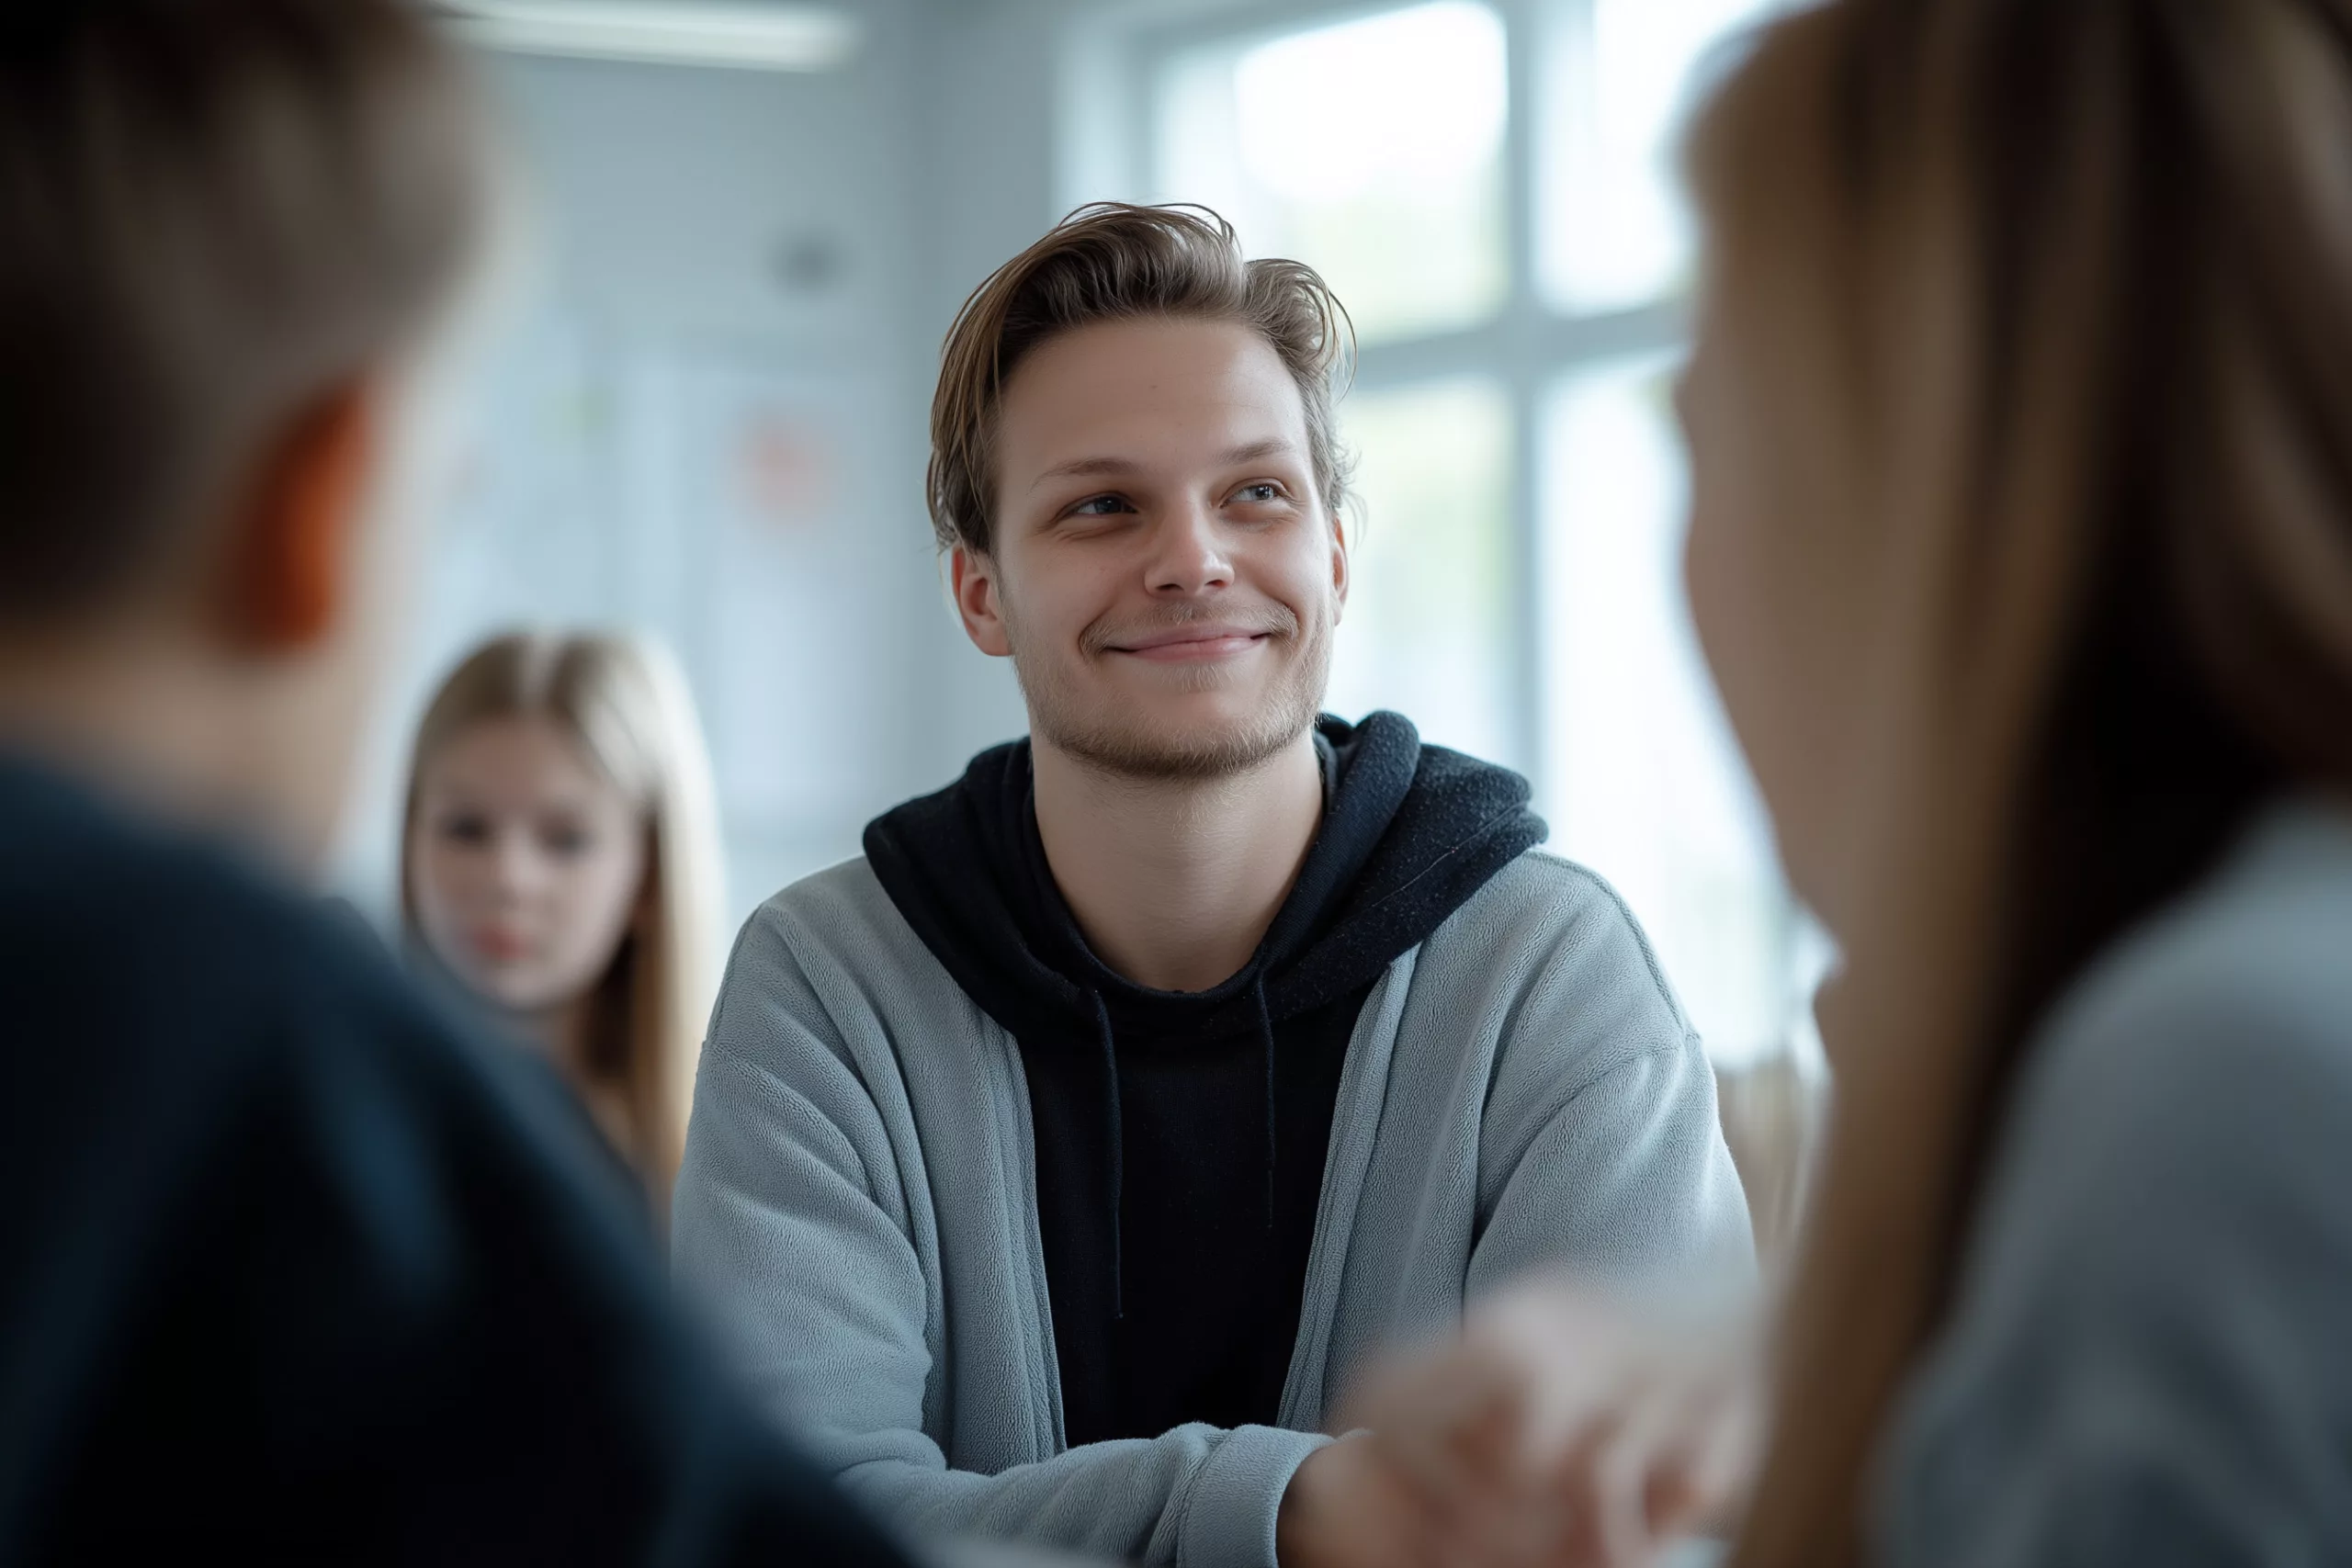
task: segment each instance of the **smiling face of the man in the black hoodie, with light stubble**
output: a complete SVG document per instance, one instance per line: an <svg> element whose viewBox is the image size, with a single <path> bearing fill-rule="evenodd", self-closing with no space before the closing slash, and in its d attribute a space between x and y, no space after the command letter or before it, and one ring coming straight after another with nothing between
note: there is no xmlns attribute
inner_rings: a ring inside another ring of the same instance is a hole
<svg viewBox="0 0 2352 1568"><path fill-rule="evenodd" d="M1263 336L1145 317L1042 343L1004 388L993 480L993 548L957 548L955 597L1037 741L1188 778L1315 722L1348 552Z"/></svg>

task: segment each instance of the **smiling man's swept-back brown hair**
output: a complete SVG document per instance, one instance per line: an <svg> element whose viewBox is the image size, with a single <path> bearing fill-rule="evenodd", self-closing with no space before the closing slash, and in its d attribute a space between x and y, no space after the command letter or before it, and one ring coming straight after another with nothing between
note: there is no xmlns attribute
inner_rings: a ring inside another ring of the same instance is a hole
<svg viewBox="0 0 2352 1568"><path fill-rule="evenodd" d="M1033 348L1091 322L1240 322L1298 383L1315 489L1334 512L1348 458L1331 400L1352 353L1348 313L1301 261L1244 261L1232 223L1207 207L1094 202L1056 223L964 301L931 400L931 531L938 548L988 552L995 538L995 425L1004 383Z"/></svg>

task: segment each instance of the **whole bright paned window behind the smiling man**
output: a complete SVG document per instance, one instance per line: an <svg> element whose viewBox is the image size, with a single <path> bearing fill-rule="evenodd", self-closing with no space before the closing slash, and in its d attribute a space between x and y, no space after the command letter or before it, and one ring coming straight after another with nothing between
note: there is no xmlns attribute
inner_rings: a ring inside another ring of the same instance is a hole
<svg viewBox="0 0 2352 1568"><path fill-rule="evenodd" d="M1131 188L1315 263L1357 324L1334 710L1524 769L1731 1060L1802 1027L1823 957L1682 602L1675 148L1776 2L1171 5L1124 42Z"/></svg>

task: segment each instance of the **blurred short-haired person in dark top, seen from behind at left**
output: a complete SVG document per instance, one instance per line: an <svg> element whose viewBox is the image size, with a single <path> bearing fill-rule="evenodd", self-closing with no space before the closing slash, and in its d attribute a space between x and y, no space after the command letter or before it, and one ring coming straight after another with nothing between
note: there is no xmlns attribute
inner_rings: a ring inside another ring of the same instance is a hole
<svg viewBox="0 0 2352 1568"><path fill-rule="evenodd" d="M0 21L7 1563L896 1561L553 1079L266 870L341 797L475 127L400 0Z"/></svg>

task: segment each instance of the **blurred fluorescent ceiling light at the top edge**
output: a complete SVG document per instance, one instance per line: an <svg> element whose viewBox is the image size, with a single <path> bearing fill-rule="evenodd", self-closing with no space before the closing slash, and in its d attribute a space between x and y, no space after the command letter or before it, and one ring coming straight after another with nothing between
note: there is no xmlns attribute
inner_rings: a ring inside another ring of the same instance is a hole
<svg viewBox="0 0 2352 1568"><path fill-rule="evenodd" d="M463 38L513 54L833 71L858 47L858 24L816 5L710 0L447 0Z"/></svg>

